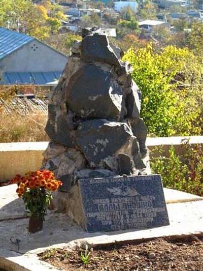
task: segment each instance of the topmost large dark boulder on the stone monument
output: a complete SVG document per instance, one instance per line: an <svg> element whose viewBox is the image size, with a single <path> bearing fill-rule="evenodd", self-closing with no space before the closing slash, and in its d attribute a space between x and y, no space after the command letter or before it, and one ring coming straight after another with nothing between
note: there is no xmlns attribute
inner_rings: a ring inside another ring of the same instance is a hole
<svg viewBox="0 0 203 271"><path fill-rule="evenodd" d="M107 36L93 34L86 36L81 43L81 58L85 62L101 62L120 67L120 62L109 45Z"/></svg>

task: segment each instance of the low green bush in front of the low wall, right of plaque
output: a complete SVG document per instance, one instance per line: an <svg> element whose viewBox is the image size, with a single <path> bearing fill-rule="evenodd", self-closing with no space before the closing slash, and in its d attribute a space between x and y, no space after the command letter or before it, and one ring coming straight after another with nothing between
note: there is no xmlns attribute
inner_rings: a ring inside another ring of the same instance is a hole
<svg viewBox="0 0 203 271"><path fill-rule="evenodd" d="M182 145L184 155L176 155L175 148L169 156L155 157L151 161L153 173L161 174L163 186L187 193L203 195L203 150L198 144ZM162 154L161 150L159 150ZM153 157L153 152L152 152Z"/></svg>

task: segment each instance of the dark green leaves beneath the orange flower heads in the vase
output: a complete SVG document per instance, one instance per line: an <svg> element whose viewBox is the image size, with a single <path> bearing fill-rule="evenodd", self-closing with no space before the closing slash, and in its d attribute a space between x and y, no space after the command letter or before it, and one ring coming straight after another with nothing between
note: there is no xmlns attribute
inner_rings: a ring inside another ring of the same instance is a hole
<svg viewBox="0 0 203 271"><path fill-rule="evenodd" d="M22 199L25 202L25 208L30 211L31 216L40 216L44 220L50 200L52 199L51 191L45 190L43 187L32 188L25 192Z"/></svg>

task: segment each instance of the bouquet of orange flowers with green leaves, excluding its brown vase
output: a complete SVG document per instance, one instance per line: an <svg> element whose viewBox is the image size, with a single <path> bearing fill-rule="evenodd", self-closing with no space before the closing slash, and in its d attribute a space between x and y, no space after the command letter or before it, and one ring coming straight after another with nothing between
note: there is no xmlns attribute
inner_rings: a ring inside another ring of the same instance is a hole
<svg viewBox="0 0 203 271"><path fill-rule="evenodd" d="M16 192L19 197L22 197L31 217L43 221L52 199L52 191L56 191L62 182L54 177L53 172L38 170L27 172L25 176L16 175L11 180L11 184L17 184Z"/></svg>

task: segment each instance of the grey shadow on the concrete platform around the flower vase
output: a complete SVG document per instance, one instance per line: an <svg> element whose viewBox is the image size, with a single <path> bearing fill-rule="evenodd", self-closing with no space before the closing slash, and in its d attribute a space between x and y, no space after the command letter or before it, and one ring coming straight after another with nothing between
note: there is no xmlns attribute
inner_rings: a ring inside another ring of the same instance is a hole
<svg viewBox="0 0 203 271"><path fill-rule="evenodd" d="M48 214L46 215L43 224L43 230L31 234L28 232L29 218L27 218L27 214L24 213L23 201L20 198L4 205L0 209L0 213L1 217L2 214L7 214L7 217L0 221L0 256L2 256L1 249L4 249L8 252L6 257L10 257L10 252L13 251L24 254L30 250L36 250L57 244L69 242L75 242L75 244L77 244L84 238L98 236L99 239L102 238L104 240L104 238L108 239L108 236L110 235L135 231L126 230L105 233L88 233L82 227L78 226L72 219L67 217L66 214L48 210Z"/></svg>

